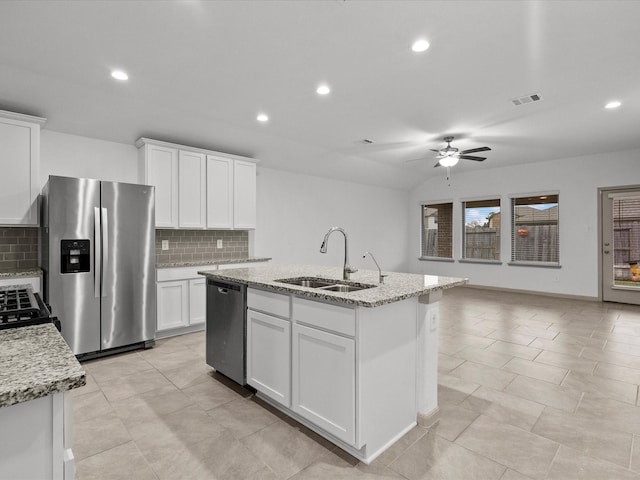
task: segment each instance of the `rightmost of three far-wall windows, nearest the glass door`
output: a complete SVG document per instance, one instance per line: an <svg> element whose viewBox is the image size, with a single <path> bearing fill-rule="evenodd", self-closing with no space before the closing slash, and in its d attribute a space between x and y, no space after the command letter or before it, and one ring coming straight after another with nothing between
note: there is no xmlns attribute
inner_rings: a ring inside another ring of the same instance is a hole
<svg viewBox="0 0 640 480"><path fill-rule="evenodd" d="M511 260L558 265L558 195L512 198L511 213Z"/></svg>

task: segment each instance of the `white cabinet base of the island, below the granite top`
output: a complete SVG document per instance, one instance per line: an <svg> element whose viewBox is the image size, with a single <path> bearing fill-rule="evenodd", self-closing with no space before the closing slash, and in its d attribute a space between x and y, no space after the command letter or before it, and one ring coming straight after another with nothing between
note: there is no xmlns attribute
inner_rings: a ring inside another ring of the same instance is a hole
<svg viewBox="0 0 640 480"><path fill-rule="evenodd" d="M365 463L416 425L416 298L364 308L249 288L247 305L247 379L265 400Z"/></svg>

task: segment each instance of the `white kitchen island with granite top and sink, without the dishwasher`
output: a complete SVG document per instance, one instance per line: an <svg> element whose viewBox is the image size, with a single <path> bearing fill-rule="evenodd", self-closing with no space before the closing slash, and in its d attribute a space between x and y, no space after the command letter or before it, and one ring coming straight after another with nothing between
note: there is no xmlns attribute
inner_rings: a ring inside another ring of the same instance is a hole
<svg viewBox="0 0 640 480"><path fill-rule="evenodd" d="M346 281L318 265L199 273L248 287L257 395L354 457L369 463L437 421L438 301L466 279L391 272L379 283L365 270Z"/></svg>

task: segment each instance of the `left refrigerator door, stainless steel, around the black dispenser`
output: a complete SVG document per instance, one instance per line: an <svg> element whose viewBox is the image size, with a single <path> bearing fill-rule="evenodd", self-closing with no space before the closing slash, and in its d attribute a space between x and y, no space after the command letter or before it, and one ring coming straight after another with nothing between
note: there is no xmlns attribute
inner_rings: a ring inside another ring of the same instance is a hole
<svg viewBox="0 0 640 480"><path fill-rule="evenodd" d="M50 176L45 196L45 298L60 319L62 336L73 353L95 352L100 349L100 298L95 295L99 273L95 267L100 264L95 212L100 207L100 182ZM74 239L89 240L89 271L62 273L61 242Z"/></svg>

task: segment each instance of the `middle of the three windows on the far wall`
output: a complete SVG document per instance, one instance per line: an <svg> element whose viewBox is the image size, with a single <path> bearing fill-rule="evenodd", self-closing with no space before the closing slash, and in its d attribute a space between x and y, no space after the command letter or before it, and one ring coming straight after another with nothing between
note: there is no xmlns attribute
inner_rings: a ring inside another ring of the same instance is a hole
<svg viewBox="0 0 640 480"><path fill-rule="evenodd" d="M462 258L500 260L500 199L462 202Z"/></svg>

